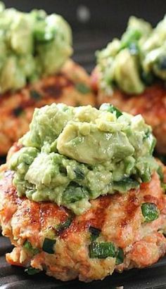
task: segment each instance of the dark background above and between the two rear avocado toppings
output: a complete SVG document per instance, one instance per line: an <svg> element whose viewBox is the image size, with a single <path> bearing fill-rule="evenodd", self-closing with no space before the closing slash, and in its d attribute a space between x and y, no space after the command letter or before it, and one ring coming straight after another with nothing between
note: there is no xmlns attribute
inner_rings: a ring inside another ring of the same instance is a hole
<svg viewBox="0 0 166 289"><path fill-rule="evenodd" d="M166 0L4 0L4 3L22 11L42 8L63 15L73 30L73 58L89 72L95 65L96 49L106 46L113 37L120 37L130 15L155 25L166 13Z"/></svg>

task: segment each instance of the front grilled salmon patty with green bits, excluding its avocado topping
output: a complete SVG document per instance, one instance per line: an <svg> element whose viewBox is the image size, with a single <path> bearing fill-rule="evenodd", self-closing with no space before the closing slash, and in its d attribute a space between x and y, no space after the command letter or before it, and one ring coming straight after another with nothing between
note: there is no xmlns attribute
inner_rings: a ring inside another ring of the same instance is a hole
<svg viewBox="0 0 166 289"><path fill-rule="evenodd" d="M15 145L9 158L19 149ZM55 203L19 198L14 173L7 165L1 173L0 224L15 246L6 259L29 274L44 270L62 281L89 282L151 266L165 255L166 198L158 173L140 188L91 200L77 216Z"/></svg>

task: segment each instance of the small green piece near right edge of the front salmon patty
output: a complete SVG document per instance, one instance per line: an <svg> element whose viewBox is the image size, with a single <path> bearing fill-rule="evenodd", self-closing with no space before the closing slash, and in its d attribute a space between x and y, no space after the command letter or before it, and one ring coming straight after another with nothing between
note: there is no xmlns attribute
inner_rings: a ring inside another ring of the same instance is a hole
<svg viewBox="0 0 166 289"><path fill-rule="evenodd" d="M159 217L158 207L153 203L143 203L141 205L141 211L145 221L154 221Z"/></svg>

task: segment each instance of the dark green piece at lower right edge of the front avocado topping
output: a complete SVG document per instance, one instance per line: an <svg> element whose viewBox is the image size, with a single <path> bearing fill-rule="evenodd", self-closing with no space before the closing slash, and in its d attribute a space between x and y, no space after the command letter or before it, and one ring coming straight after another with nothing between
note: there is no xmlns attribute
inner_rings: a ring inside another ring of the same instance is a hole
<svg viewBox="0 0 166 289"><path fill-rule="evenodd" d="M131 178L124 178L121 181L113 181L113 189L115 191L125 193L132 188L138 188L139 182Z"/></svg>

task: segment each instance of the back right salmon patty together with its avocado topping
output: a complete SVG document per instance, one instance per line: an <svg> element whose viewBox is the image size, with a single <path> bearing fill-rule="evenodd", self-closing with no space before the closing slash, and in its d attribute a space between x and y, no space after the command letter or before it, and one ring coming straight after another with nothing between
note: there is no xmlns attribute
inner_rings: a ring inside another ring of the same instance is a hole
<svg viewBox="0 0 166 289"><path fill-rule="evenodd" d="M91 76L98 105L109 102L127 113L141 113L153 128L159 153L166 153L165 25L166 18L154 29L144 20L129 18L121 39L97 52Z"/></svg>

